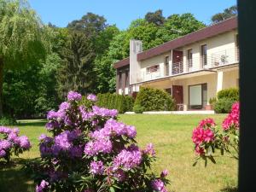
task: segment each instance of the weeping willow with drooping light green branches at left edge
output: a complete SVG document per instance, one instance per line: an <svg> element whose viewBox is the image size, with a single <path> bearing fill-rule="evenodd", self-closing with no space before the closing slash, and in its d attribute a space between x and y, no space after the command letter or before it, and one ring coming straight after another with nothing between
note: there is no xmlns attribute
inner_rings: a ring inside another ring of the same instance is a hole
<svg viewBox="0 0 256 192"><path fill-rule="evenodd" d="M24 67L44 58L44 27L25 1L0 0L0 116L3 68Z"/></svg>

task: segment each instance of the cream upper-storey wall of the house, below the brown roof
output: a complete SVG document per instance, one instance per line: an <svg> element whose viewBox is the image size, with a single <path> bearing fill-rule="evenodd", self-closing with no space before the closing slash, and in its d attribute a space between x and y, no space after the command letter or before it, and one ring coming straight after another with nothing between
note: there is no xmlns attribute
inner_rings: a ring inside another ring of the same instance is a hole
<svg viewBox="0 0 256 192"><path fill-rule="evenodd" d="M223 34L220 34L218 36L212 37L212 38L207 38L203 41L196 42L195 44L189 44L186 45L182 48L179 48L177 50L182 50L183 51L183 70L184 72L187 71L186 66L186 61L187 61L187 50L192 49L193 52L193 69L192 71L196 71L201 69L201 45L207 44L207 63L208 66L206 67L212 67L212 56L213 55L222 55L222 54L227 54L229 55L228 59L231 61L233 60L236 55L235 55L235 48L236 48L236 34L237 31L230 31L230 32L225 32ZM138 74L141 74L141 81L147 81L150 79L156 79L159 77L164 77L165 76L165 57L169 56L169 69L171 74L171 69L172 69L172 51L166 52L165 54L162 55L157 55L152 58L149 58L147 60L141 61L140 62L140 71ZM160 65L160 72L157 73L151 73L147 74L146 73L146 68L151 67L154 65ZM131 74L132 75L132 74Z"/></svg>

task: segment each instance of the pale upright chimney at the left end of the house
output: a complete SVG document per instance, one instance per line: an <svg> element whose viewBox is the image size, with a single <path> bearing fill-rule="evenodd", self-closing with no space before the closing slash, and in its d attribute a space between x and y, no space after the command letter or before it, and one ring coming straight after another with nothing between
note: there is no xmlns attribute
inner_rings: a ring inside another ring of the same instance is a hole
<svg viewBox="0 0 256 192"><path fill-rule="evenodd" d="M143 51L143 42L130 40L130 84L136 84L137 78L141 75L140 62L137 61L137 54Z"/></svg>

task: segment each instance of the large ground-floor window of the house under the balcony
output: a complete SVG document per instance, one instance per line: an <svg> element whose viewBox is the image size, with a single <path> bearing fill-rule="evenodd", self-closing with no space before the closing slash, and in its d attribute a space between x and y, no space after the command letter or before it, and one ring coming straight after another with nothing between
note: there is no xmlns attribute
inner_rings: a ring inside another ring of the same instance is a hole
<svg viewBox="0 0 256 192"><path fill-rule="evenodd" d="M207 105L207 84L189 86L189 109L202 109Z"/></svg>

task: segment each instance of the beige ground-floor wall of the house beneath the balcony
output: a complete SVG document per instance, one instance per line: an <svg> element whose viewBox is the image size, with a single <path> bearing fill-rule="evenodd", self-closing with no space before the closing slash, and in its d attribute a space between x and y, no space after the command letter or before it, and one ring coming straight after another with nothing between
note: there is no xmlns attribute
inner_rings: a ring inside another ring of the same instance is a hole
<svg viewBox="0 0 256 192"><path fill-rule="evenodd" d="M223 72L222 89L238 87L238 67L219 69L218 72ZM217 94L218 72L190 78L186 78L186 75L183 75L183 77L180 76L181 79L170 78L159 81L152 81L144 83L143 86L151 86L158 89L168 89L172 88L172 85L183 85L183 103L185 105L185 108L188 108L189 85L207 84L207 102L209 102L209 99L215 97Z"/></svg>

